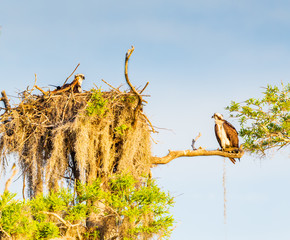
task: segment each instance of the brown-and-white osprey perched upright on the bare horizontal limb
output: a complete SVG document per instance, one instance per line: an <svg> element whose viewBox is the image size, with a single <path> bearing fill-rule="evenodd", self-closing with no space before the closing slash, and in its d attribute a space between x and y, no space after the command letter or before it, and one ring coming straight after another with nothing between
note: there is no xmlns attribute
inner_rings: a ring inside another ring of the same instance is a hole
<svg viewBox="0 0 290 240"><path fill-rule="evenodd" d="M235 127L224 120L220 113L215 113L212 118L215 120L215 135L222 150L225 148L239 148L239 138ZM235 164L236 160L234 158L230 158L230 160Z"/></svg>

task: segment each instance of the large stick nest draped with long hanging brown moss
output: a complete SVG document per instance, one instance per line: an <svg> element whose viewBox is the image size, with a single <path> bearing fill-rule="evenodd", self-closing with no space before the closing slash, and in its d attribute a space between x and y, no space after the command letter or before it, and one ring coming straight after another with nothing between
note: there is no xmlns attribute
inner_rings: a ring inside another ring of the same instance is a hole
<svg viewBox="0 0 290 240"><path fill-rule="evenodd" d="M57 189L64 179L73 185L115 172L149 173L150 129L142 114L135 115L133 93L33 93L23 92L0 116L1 164L18 156L30 196Z"/></svg>

